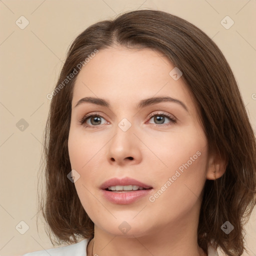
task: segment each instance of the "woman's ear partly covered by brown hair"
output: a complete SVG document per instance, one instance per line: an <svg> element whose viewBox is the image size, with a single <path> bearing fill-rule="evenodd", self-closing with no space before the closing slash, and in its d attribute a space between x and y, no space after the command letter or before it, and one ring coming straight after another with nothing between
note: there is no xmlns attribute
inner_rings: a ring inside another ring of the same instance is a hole
<svg viewBox="0 0 256 256"><path fill-rule="evenodd" d="M217 179L221 177L227 166L227 160L225 157L221 157L219 154L215 154L208 159L208 168L206 172L207 179Z"/></svg>

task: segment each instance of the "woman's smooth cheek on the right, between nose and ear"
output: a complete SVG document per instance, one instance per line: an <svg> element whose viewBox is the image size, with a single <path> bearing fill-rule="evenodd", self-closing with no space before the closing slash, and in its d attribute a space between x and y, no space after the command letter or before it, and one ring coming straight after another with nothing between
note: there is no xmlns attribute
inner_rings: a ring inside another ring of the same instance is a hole
<svg viewBox="0 0 256 256"><path fill-rule="evenodd" d="M164 194L174 193L178 197L185 197L186 192L199 196L206 179L208 156L203 131L198 126L186 127L185 131L179 130L159 141L161 146L158 145L153 150L161 160L158 161L161 167L151 170L151 174L157 176L154 181L157 188L164 190L165 185L168 189L165 189ZM153 143L149 146L153 148ZM192 192L189 192L189 188Z"/></svg>

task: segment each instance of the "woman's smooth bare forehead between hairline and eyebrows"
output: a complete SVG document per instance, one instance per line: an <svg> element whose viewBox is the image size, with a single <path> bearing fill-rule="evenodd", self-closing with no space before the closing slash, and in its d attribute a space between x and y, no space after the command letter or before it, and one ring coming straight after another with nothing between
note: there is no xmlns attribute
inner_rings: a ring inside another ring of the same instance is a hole
<svg viewBox="0 0 256 256"><path fill-rule="evenodd" d="M137 102L145 97L168 95L189 104L191 97L184 81L174 80L169 74L174 67L163 53L154 49L101 49L77 75L72 106L84 96L132 103L132 99Z"/></svg>

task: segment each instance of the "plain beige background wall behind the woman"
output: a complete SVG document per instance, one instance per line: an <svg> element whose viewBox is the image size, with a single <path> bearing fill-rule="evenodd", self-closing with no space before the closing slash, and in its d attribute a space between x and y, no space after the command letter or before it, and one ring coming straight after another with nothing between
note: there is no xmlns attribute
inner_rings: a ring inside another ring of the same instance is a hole
<svg viewBox="0 0 256 256"><path fill-rule="evenodd" d="M0 255L52 247L40 219L36 229L37 172L50 103L46 94L57 81L68 45L88 25L142 8L185 18L216 42L255 131L255 0L0 0ZM229 29L221 24L226 15L234 21ZM20 16L29 21L23 29ZM28 124L23 131L21 118ZM25 226L20 221L29 226L24 234L18 232ZM246 229L248 255L256 255L256 210Z"/></svg>

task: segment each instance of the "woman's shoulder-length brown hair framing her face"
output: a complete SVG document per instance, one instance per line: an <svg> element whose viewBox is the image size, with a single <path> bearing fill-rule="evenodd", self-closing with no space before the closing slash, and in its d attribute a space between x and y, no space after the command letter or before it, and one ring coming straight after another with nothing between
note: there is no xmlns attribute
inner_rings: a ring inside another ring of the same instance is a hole
<svg viewBox="0 0 256 256"><path fill-rule="evenodd" d="M198 106L209 151L228 161L220 178L205 182L198 245L207 252L207 244L213 241L213 246L220 246L226 255L241 255L245 249L243 226L256 203L256 146L225 57L204 32L182 18L158 10L129 11L114 20L92 24L74 39L55 89L77 70L78 63L85 63L91 52L113 44L157 50L182 71L182 79ZM62 243L90 240L94 234L93 222L67 178L71 170L67 140L76 77L53 93L44 131L46 194L39 206L49 231ZM229 234L220 228L226 220L234 226Z"/></svg>

